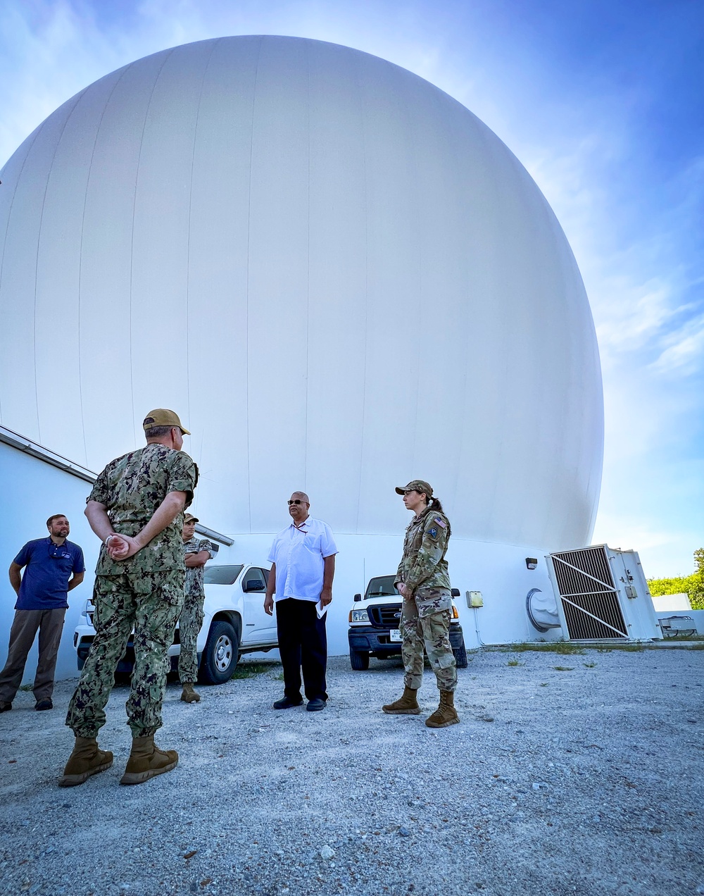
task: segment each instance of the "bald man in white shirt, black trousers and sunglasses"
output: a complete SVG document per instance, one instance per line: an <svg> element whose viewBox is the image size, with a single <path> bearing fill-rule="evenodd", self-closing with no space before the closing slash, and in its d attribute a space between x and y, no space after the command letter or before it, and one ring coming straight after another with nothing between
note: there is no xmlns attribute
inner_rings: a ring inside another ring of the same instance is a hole
<svg viewBox="0 0 704 896"><path fill-rule="evenodd" d="M275 710L288 710L303 703L301 667L306 709L324 710L328 699L327 614L319 618L315 605L327 607L332 600L338 548L330 526L308 515L310 506L305 492L291 495L288 513L292 522L274 538L269 554L272 566L264 610L272 615L276 593L276 628L284 668L284 696L274 703Z"/></svg>

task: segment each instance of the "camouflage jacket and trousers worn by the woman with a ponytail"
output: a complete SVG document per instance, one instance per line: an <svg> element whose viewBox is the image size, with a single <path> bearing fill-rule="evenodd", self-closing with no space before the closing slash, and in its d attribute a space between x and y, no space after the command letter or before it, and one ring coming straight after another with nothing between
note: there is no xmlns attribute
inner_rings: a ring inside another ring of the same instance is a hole
<svg viewBox="0 0 704 896"><path fill-rule="evenodd" d="M406 530L403 558L395 584L410 591L401 609L401 656L406 687L417 690L423 680L423 648L433 667L441 691L457 687L457 669L450 645L452 595L445 552L450 539L450 521L430 504L414 517Z"/></svg>

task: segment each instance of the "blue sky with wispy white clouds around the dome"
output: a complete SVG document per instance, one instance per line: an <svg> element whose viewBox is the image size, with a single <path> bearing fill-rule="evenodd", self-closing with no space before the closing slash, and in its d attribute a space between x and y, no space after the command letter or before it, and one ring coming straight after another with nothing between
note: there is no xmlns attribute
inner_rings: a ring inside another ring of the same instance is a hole
<svg viewBox="0 0 704 896"><path fill-rule="evenodd" d="M4 0L0 164L119 65L226 34L331 40L459 99L528 168L584 277L605 386L595 542L648 576L704 547L704 5Z"/></svg>

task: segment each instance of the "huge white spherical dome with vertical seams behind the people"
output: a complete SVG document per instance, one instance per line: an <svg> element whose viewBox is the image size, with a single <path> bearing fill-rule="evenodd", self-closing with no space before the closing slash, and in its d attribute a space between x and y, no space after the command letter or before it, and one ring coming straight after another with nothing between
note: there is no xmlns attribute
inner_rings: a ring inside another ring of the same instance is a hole
<svg viewBox="0 0 704 896"><path fill-rule="evenodd" d="M99 470L173 407L203 521L260 549L304 488L343 604L393 571L411 478L497 625L527 553L588 542L580 273L519 161L442 90L320 41L204 40L82 90L0 179L4 426Z"/></svg>

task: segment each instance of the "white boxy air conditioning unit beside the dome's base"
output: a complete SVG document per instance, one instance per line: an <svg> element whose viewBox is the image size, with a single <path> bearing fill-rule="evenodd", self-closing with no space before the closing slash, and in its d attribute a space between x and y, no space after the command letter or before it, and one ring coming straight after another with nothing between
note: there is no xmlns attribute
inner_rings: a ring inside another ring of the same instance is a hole
<svg viewBox="0 0 704 896"><path fill-rule="evenodd" d="M636 551L593 545L545 559L567 640L662 640Z"/></svg>

